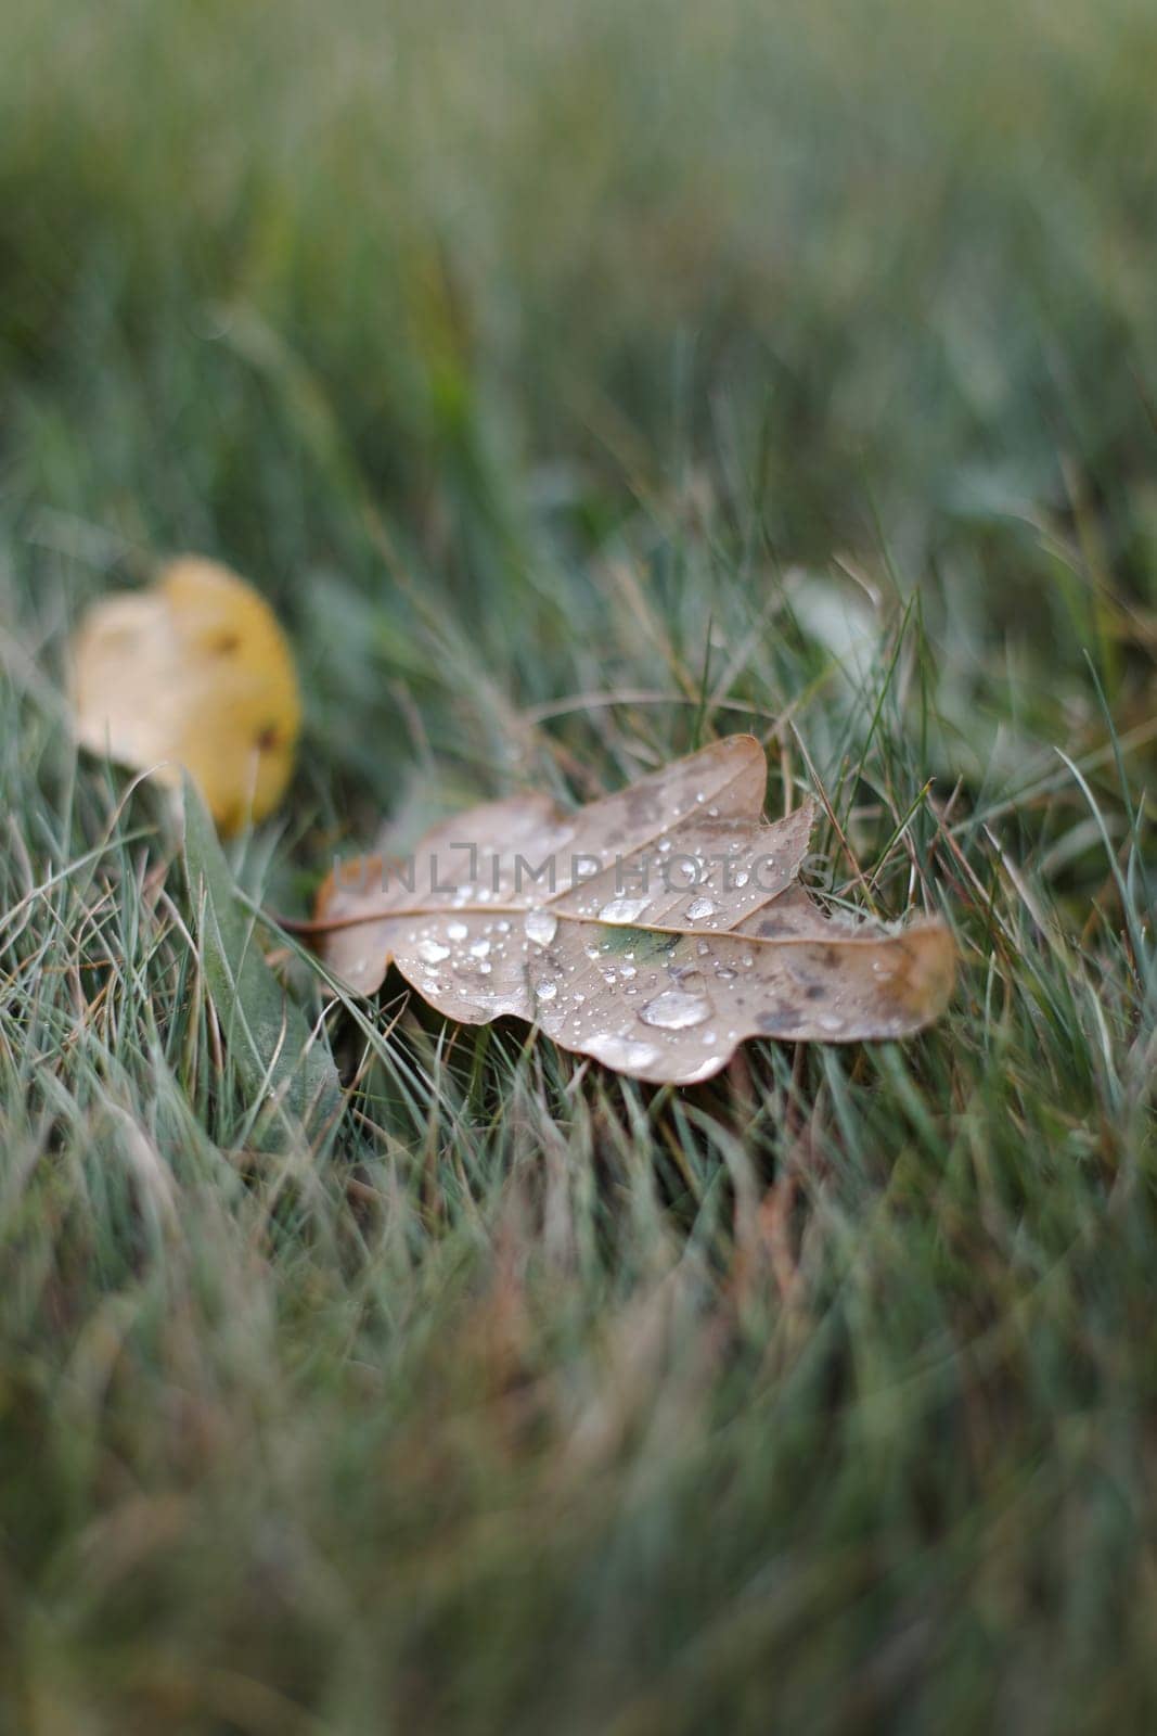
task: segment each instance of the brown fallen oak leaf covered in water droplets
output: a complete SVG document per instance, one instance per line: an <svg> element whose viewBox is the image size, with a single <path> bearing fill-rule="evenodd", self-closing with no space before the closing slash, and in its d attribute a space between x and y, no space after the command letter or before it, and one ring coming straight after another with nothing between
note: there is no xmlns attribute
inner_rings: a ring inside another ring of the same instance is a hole
<svg viewBox="0 0 1157 1736"><path fill-rule="evenodd" d="M451 1019L512 1014L656 1083L711 1078L749 1036L928 1024L952 991L945 925L826 917L798 880L814 804L767 825L765 785L760 743L729 736L574 814L545 795L491 802L402 865L343 865L305 927L357 993L395 963Z"/></svg>

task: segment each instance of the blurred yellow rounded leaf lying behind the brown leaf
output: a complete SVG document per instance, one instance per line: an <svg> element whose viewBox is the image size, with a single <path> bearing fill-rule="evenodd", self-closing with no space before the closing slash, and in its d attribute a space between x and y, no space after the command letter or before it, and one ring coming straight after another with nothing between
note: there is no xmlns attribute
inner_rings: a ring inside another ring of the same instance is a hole
<svg viewBox="0 0 1157 1736"><path fill-rule="evenodd" d="M293 769L300 696L269 604L186 556L144 592L94 604L73 644L76 736L94 753L201 788L222 832L262 819Z"/></svg>

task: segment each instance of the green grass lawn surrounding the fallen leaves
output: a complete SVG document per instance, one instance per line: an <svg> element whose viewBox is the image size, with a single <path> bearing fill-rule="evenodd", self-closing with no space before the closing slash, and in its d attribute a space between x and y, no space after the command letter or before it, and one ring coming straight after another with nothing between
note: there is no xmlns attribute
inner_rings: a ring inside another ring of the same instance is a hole
<svg viewBox="0 0 1157 1736"><path fill-rule="evenodd" d="M1157 1729L1152 0L5 38L0 1731ZM947 1017L675 1092L390 983L258 1137L62 705L187 549L302 667L265 908L749 729Z"/></svg>

